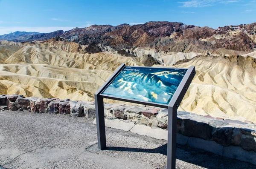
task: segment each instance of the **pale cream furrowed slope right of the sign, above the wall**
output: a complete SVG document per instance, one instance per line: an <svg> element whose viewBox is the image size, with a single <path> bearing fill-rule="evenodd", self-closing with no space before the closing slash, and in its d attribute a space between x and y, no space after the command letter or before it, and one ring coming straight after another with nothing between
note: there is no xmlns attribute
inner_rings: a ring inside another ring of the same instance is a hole
<svg viewBox="0 0 256 169"><path fill-rule="evenodd" d="M196 67L180 108L213 117L256 122L256 60L252 57L195 57L175 67Z"/></svg>

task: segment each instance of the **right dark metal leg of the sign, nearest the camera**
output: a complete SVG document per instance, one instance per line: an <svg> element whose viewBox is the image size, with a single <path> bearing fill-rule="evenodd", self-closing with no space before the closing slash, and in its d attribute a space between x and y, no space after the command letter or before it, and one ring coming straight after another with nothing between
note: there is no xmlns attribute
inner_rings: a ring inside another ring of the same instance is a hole
<svg viewBox="0 0 256 169"><path fill-rule="evenodd" d="M176 167L177 107L168 107L167 169Z"/></svg>

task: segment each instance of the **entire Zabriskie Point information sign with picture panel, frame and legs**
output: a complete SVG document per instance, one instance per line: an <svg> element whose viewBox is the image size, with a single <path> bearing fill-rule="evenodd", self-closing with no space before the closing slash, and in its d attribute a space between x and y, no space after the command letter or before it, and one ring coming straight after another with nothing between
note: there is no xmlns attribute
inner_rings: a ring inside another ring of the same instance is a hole
<svg viewBox="0 0 256 169"><path fill-rule="evenodd" d="M195 76L189 69L122 64L95 93L99 149L106 148L103 98L168 109L167 168L175 169L177 109Z"/></svg>

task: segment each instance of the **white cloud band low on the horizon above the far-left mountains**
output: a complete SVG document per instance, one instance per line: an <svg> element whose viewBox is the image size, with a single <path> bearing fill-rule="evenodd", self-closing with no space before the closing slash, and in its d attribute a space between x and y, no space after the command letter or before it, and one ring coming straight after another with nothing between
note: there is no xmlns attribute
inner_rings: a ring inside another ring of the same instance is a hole
<svg viewBox="0 0 256 169"><path fill-rule="evenodd" d="M73 28L75 28L75 27L59 27L59 26L55 26L55 27L0 27L0 35L9 34L11 32L16 32L16 31L48 33L48 32L54 32L54 31L58 31L58 30L68 31Z"/></svg>

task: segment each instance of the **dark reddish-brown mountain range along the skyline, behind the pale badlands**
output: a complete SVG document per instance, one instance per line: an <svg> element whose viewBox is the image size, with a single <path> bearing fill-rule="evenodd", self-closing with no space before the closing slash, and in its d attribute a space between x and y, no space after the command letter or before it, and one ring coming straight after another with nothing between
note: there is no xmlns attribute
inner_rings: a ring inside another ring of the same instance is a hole
<svg viewBox="0 0 256 169"><path fill-rule="evenodd" d="M91 45L97 49L91 53L108 51L106 46L115 51L142 47L157 52L197 52L204 55L225 55L232 52L238 54L235 51L245 54L253 52L256 48L256 23L212 29L178 22L155 21L133 26L92 25L66 32L60 30L51 33L12 34L16 33L2 35L0 40L32 42L55 38L80 45Z"/></svg>

